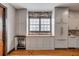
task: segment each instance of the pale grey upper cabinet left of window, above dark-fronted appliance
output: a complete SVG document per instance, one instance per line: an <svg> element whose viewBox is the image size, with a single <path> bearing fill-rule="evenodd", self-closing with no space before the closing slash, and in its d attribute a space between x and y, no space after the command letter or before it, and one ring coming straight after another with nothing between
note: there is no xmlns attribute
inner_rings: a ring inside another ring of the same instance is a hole
<svg viewBox="0 0 79 59"><path fill-rule="evenodd" d="M26 35L26 19L27 19L27 10L17 9L16 10L16 22L15 22L16 35Z"/></svg>

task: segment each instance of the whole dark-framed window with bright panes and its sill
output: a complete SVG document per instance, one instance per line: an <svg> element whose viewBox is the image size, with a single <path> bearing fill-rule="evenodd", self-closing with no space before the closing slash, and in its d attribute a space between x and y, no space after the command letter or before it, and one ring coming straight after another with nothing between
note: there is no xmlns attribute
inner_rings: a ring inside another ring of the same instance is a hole
<svg viewBox="0 0 79 59"><path fill-rule="evenodd" d="M33 15L34 16L34 15ZM29 34L51 34L51 17L29 17Z"/></svg>

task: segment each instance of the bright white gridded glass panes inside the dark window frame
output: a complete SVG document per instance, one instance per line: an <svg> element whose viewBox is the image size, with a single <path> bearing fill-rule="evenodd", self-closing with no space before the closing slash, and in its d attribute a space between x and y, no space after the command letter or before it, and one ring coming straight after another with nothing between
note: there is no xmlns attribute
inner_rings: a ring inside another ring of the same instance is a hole
<svg viewBox="0 0 79 59"><path fill-rule="evenodd" d="M30 18L30 31L50 31L50 18Z"/></svg>

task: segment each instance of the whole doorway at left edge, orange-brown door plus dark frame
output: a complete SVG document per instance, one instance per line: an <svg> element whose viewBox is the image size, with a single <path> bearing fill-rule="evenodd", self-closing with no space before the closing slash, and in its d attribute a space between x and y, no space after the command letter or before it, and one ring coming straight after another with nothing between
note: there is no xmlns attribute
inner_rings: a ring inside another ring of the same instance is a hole
<svg viewBox="0 0 79 59"><path fill-rule="evenodd" d="M6 55L6 7L0 4L0 56Z"/></svg>

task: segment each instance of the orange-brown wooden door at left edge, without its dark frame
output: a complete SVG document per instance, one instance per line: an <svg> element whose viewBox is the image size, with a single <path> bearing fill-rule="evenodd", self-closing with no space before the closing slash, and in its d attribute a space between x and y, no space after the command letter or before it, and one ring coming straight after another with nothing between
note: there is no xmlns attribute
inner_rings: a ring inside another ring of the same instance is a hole
<svg viewBox="0 0 79 59"><path fill-rule="evenodd" d="M0 7L0 55L3 55L3 8Z"/></svg>

